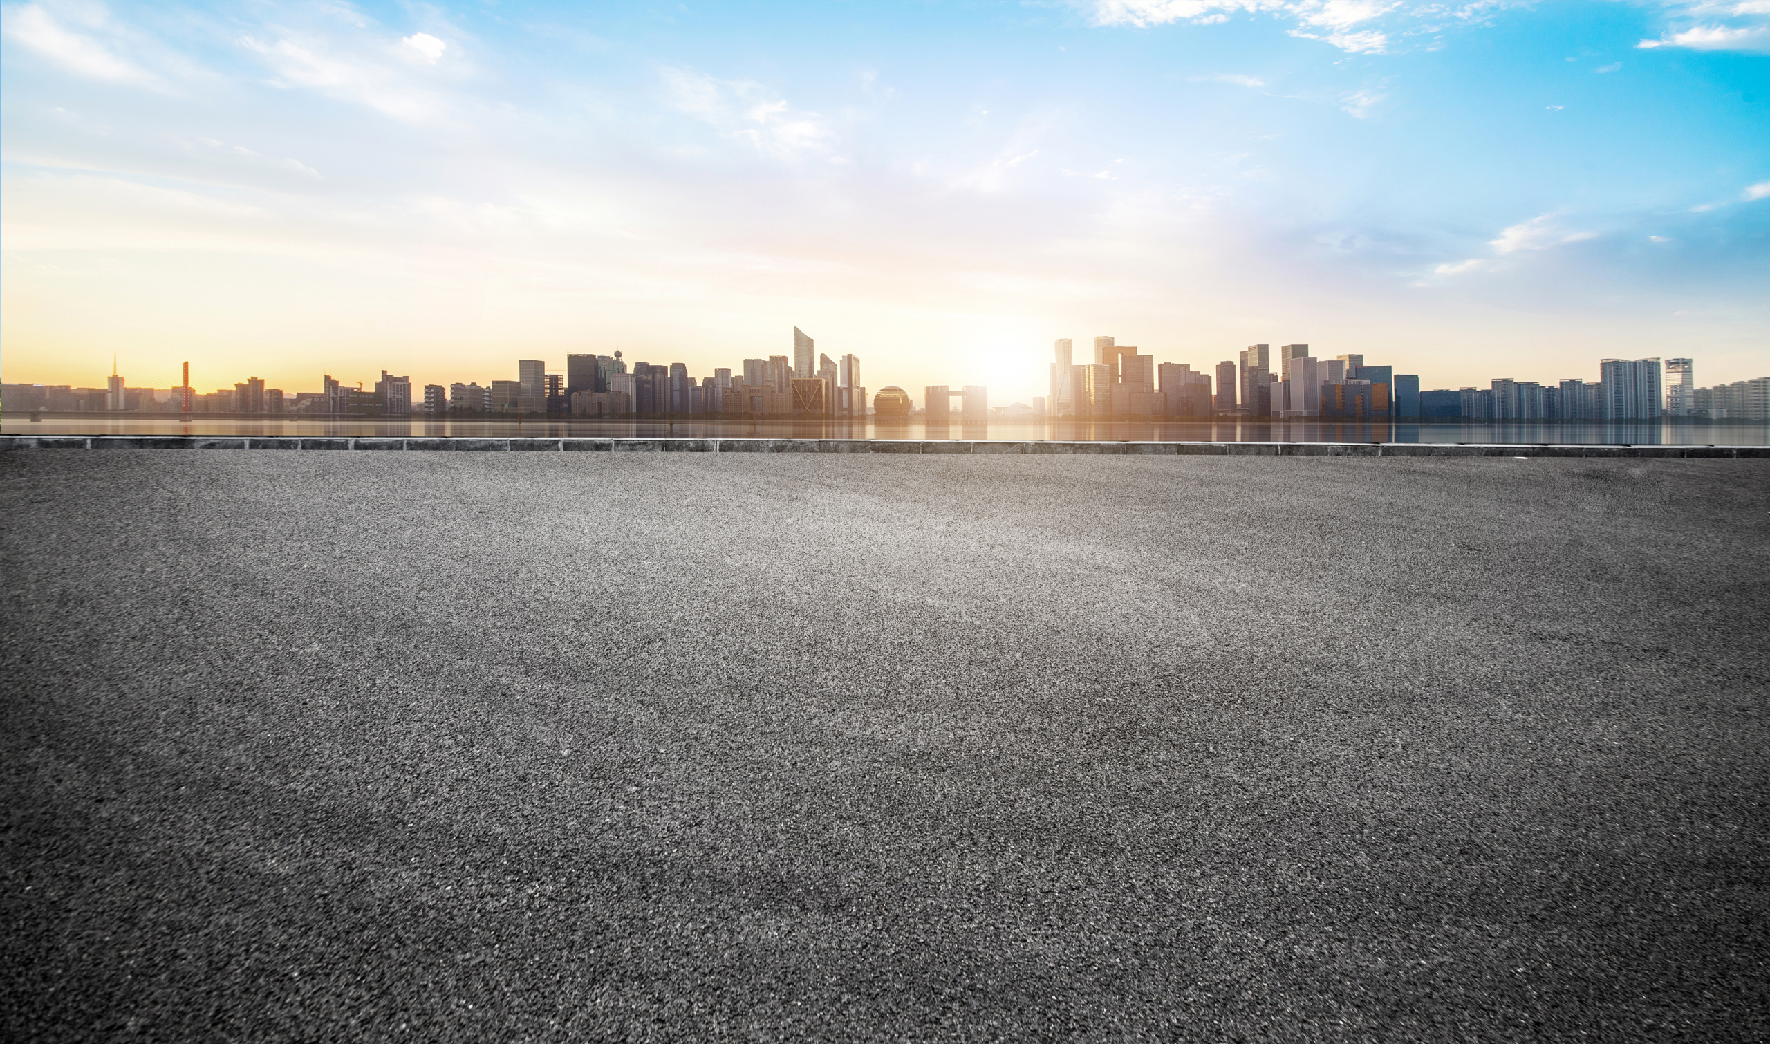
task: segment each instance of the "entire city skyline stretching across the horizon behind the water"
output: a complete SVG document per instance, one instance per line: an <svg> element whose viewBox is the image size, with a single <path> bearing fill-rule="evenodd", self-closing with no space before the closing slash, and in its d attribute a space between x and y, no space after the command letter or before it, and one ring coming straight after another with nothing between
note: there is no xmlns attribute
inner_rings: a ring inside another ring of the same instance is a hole
<svg viewBox="0 0 1770 1044"><path fill-rule="evenodd" d="M1598 380L1558 384L1501 377L1489 388L1420 389L1414 373L1388 365L1366 365L1365 356L1335 359L1310 356L1308 345L1248 345L1235 359L1212 370L1161 363L1135 345L1094 338L1094 361L1076 363L1067 338L1057 342L1048 398L1035 398L1032 414L1050 418L1322 418L1340 421L1637 421L1673 418L1770 419L1770 379L1696 388L1690 359L1602 359ZM115 370L115 368L113 368ZM866 418L867 389L860 386L860 359L830 359L793 327L793 356L743 359L742 372L715 368L694 379L685 363L625 363L612 356L566 356L565 373L547 373L542 359L519 359L515 380L480 384L427 384L423 402L412 402L411 377L381 372L373 389L347 386L329 373L320 391L285 395L248 377L234 388L196 393L126 388L115 372L106 388L42 384L0 386L0 409L11 412L205 412L205 414L326 414L388 416L724 416L724 418ZM945 384L924 388L929 423L950 419L952 400L963 402L966 421L989 416L982 386L959 391ZM881 389L873 416L910 416L913 402L901 388ZM1018 405L1009 412L1027 414Z"/></svg>

